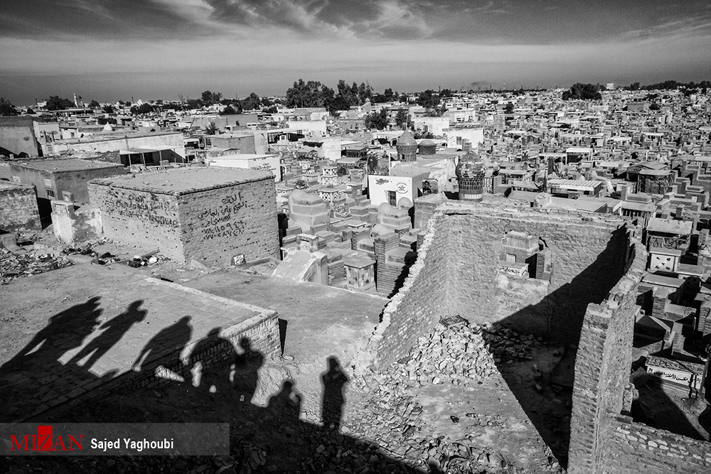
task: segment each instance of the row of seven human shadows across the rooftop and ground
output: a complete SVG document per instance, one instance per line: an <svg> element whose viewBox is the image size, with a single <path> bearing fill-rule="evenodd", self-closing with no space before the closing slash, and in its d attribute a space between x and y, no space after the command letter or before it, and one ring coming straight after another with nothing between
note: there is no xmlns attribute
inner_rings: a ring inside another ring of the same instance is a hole
<svg viewBox="0 0 711 474"><path fill-rule="evenodd" d="M252 401L264 355L252 349L247 337L240 338L238 352L216 327L198 340L186 356L193 336L190 316L161 328L141 348L132 371L111 367L112 362L92 371L102 358L110 359L111 354L107 353L134 325L146 319L147 311L141 308L143 303L134 301L126 311L103 323L98 297L50 317L48 324L0 367L0 386L6 387L0 393L0 404L6 407L1 411L0 421L27 419L38 408L52 407L55 402L65 400L85 382L100 379L108 382L115 377L124 377L128 386L132 378L159 380L161 387L179 385L201 396L229 399L235 404ZM92 334L95 336L90 338ZM87 338L90 339L85 343ZM76 352L68 357L72 351ZM343 388L348 377L336 357L329 357L327 365L321 377L322 419L328 429L338 430L344 404ZM95 375L101 370L105 371L102 375ZM101 389L100 384L95 387L95 390ZM269 399L267 410L272 418L299 420L301 395L296 392L292 379L284 380L280 392Z"/></svg>

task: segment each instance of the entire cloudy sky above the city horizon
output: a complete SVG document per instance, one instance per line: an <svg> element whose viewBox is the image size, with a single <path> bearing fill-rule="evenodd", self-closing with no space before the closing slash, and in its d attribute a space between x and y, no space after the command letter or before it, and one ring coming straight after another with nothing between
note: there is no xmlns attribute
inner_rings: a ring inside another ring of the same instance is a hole
<svg viewBox="0 0 711 474"><path fill-rule="evenodd" d="M21 0L0 96L284 95L299 78L415 92L711 80L708 0Z"/></svg>

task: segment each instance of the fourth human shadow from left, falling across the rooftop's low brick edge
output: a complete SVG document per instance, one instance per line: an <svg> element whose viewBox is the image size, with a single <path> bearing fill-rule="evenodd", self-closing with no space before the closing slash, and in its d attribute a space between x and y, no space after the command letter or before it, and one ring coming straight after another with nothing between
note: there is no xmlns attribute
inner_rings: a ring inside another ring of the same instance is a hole
<svg viewBox="0 0 711 474"><path fill-rule="evenodd" d="M218 348L213 352L213 348ZM206 362L203 355L210 354L213 360ZM208 335L198 341L190 355L190 365L200 362L200 383L198 387L220 397L232 395L230 372L237 360L237 351L232 343L220 337L220 328L210 329Z"/></svg>

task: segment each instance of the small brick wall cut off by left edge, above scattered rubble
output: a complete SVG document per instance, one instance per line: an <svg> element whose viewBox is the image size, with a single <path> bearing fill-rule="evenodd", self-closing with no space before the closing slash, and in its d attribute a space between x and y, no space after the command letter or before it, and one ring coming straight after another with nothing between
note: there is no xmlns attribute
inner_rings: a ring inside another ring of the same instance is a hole
<svg viewBox="0 0 711 474"><path fill-rule="evenodd" d="M0 230L41 229L31 185L0 182Z"/></svg>

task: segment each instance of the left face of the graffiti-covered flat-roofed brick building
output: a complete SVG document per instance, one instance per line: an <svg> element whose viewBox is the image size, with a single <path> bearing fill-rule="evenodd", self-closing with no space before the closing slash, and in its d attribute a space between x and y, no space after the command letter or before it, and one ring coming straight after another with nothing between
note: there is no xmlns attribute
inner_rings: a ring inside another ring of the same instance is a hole
<svg viewBox="0 0 711 474"><path fill-rule="evenodd" d="M176 196L101 182L89 183L88 188L92 205L101 209L107 237L160 249L165 257L185 262Z"/></svg>

